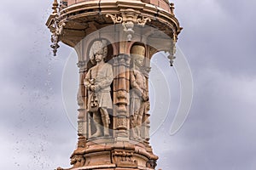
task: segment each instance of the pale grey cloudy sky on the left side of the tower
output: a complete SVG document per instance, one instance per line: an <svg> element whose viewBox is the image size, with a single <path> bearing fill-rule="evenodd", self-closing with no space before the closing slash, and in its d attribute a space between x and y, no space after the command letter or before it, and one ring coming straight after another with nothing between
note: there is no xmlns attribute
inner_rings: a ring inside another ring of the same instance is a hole
<svg viewBox="0 0 256 170"><path fill-rule="evenodd" d="M70 49L62 48L62 58L50 54L50 33L44 26L50 5L43 1L1 5L0 132L6 146L1 147L1 168L68 167L76 143L76 131L61 101L61 72Z"/></svg>

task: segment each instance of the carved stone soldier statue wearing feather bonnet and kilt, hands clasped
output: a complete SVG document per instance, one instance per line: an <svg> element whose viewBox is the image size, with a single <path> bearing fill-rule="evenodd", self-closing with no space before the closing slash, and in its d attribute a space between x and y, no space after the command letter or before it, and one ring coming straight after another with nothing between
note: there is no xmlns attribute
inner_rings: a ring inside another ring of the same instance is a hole
<svg viewBox="0 0 256 170"><path fill-rule="evenodd" d="M96 126L96 133L91 137L109 136L109 115L108 109L113 109L110 95L110 84L113 82L112 65L105 63L107 56L107 42L96 41L90 48L90 59L95 59L96 65L91 67L84 78L84 86L89 91L86 109L93 113L93 120Z"/></svg>

